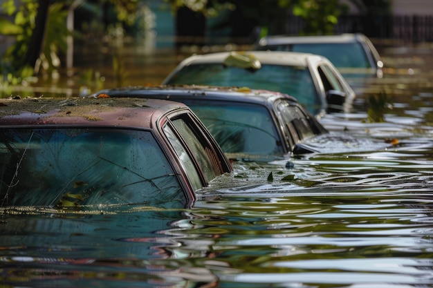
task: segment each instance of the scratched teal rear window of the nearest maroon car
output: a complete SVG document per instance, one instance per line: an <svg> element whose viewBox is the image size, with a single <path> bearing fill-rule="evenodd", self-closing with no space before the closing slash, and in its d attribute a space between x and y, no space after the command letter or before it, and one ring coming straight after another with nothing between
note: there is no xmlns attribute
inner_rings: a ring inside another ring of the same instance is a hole
<svg viewBox="0 0 433 288"><path fill-rule="evenodd" d="M2 206L148 204L185 207L150 131L1 128Z"/></svg>

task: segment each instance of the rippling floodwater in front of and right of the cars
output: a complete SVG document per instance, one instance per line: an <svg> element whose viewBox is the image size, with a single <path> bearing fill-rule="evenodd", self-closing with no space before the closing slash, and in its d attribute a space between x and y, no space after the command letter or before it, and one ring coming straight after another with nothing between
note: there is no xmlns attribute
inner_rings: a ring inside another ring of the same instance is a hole
<svg viewBox="0 0 433 288"><path fill-rule="evenodd" d="M321 120L344 147L235 162L188 210L3 208L0 287L433 287L432 48L381 52L385 78Z"/></svg>

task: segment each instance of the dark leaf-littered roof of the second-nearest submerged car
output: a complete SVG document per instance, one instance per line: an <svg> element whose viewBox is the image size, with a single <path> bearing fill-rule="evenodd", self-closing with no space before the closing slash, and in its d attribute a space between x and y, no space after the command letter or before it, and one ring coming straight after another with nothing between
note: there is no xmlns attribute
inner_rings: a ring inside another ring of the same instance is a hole
<svg viewBox="0 0 433 288"><path fill-rule="evenodd" d="M297 99L284 93L250 89L247 87L234 88L222 86L200 86L200 85L162 85L162 86L129 86L123 88L114 88L101 90L91 97L100 97L100 95L109 95L110 97L155 97L176 101L178 99L212 99L224 102L243 102L259 105L268 105L275 102L276 99L288 99L294 105L299 104Z"/></svg>

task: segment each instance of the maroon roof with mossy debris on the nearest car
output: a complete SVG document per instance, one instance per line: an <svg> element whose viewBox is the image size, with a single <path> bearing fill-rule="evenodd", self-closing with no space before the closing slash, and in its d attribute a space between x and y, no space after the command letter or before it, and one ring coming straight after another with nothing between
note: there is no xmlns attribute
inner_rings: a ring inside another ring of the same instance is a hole
<svg viewBox="0 0 433 288"><path fill-rule="evenodd" d="M179 109L189 110L185 104L160 99L0 99L0 125L151 128L152 121Z"/></svg>

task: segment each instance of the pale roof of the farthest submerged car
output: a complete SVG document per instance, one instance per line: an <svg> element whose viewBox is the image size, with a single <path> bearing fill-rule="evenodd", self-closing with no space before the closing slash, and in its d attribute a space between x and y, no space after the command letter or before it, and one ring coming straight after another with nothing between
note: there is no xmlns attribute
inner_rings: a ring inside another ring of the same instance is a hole
<svg viewBox="0 0 433 288"><path fill-rule="evenodd" d="M320 36L289 36L272 35L261 38L259 46L284 45L284 44L343 44L355 43L365 38L362 34L340 34L340 35L320 35Z"/></svg>

